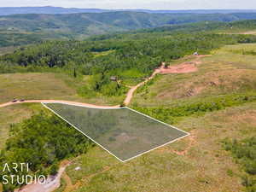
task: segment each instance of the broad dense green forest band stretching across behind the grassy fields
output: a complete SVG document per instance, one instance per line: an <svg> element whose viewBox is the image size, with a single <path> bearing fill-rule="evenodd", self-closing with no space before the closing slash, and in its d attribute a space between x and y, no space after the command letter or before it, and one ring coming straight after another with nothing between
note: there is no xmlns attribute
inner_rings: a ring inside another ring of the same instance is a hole
<svg viewBox="0 0 256 192"><path fill-rule="evenodd" d="M56 72L74 78L88 76L79 88L104 96L125 93L124 84L135 84L153 73L163 61L174 61L195 51L208 54L224 44L253 43L253 35L212 34L207 32L165 32L123 34L118 38L86 41L43 41L23 46L0 57L0 73ZM111 80L115 77L116 81ZM89 91L90 90L90 91Z"/></svg>

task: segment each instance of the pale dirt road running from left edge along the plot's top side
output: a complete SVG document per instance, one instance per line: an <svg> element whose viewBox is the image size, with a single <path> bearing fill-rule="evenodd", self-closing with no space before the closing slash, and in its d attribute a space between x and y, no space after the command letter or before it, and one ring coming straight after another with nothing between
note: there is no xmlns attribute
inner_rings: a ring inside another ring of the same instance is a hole
<svg viewBox="0 0 256 192"><path fill-rule="evenodd" d="M71 105L80 105L84 107L89 107L89 108L119 108L119 105L116 106L101 106L101 105L93 105L89 103L84 103L84 102L69 102L69 101L62 101L62 100L27 100L24 102L6 102L3 104L0 104L0 108L7 107L10 105L15 105L19 103L33 103L33 102L63 102Z"/></svg>

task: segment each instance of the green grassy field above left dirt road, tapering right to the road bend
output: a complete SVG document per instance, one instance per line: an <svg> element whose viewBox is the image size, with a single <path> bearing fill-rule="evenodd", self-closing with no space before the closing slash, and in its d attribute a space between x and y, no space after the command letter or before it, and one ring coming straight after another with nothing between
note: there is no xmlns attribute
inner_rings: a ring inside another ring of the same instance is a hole
<svg viewBox="0 0 256 192"><path fill-rule="evenodd" d="M61 73L8 73L0 74L0 103L12 101L13 98L57 99L95 104L119 104L123 96L96 96L84 98L79 96L79 86L86 84L86 77L73 79Z"/></svg>

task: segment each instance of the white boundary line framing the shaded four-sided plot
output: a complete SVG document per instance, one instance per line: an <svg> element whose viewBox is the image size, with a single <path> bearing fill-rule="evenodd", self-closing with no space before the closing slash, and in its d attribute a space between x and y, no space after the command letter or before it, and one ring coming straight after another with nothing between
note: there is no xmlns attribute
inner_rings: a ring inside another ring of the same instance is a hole
<svg viewBox="0 0 256 192"><path fill-rule="evenodd" d="M95 107L91 107L91 106L90 106L90 107L87 107L87 106L84 106L84 105L73 104L73 103L70 104L70 103L66 103L66 102L41 102L41 104L44 106L44 108L49 109L49 111L51 111L52 113L55 113L55 111L54 111L53 109L49 108L48 106L46 106L44 103L45 103L45 104L48 104L48 103L61 103L61 104L73 105L73 106L78 106L78 107L83 107L83 108L95 108ZM145 117L148 117L149 119L154 119L154 118L148 116L147 114L140 113L140 112L138 112L138 111L136 111L136 110L134 110L134 109L132 109L132 108L128 108L128 107L124 107L124 108L127 108L127 109L131 110L132 112L139 113L139 114L141 114L141 115L143 115L143 116L145 116ZM97 108L97 109L124 109L124 108ZM55 113L55 115L57 115L59 118L61 118L61 119L63 119L64 121L66 121L69 125L72 125L73 128L75 128L77 131L81 132L84 136L88 137L91 141L93 141L94 143L96 143L97 145L99 145L99 146L100 146L101 148L103 148L104 150L108 151L109 154L112 154L115 158L117 158L118 160L120 160L119 157L117 157L115 154L113 154L112 152L110 152L107 148L104 148L100 143L97 143L94 139L92 139L91 137L89 137L88 135L86 135L83 131L80 131L79 128L77 128L75 125L71 124L69 121L67 121L67 119L64 119L63 117L61 117L60 114ZM178 129L178 128L175 127L175 126L168 125L168 124L166 124L166 123L164 123L164 122L162 122L162 121L160 121L160 120L158 120L158 119L154 119L154 120L157 121L157 122L159 122L159 123L161 123L161 124L170 126L170 127L172 127L173 129L176 129L176 130L178 130L178 131L182 131L183 133L186 134L186 135L183 136L183 137L187 137L187 136L190 135L189 132L180 130L180 129ZM124 163L124 162L126 162L126 161L128 161L128 160L132 160L132 159L134 159L134 158L136 158L136 157L138 157L138 156L141 156L141 155L143 155L143 154L147 154L148 152L153 151L153 150L156 149L156 148L161 148L161 147L163 147L163 146L165 146L165 145L167 145L167 144L176 142L177 140L182 139L183 137L178 137L178 138L172 140L171 142L164 143L164 144L162 144L162 145L160 145L160 146L157 146L157 147L155 147L155 148L151 148L151 149L149 149L148 151L143 152L142 154L137 154L137 155L135 155L135 156L133 156L133 157L127 159L127 160L120 160L120 161Z"/></svg>

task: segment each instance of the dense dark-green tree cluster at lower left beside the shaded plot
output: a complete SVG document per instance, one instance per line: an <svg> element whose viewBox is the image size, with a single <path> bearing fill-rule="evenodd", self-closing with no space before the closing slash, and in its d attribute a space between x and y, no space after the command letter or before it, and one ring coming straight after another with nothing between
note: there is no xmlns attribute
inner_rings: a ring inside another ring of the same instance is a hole
<svg viewBox="0 0 256 192"><path fill-rule="evenodd" d="M30 162L30 170L34 174L55 174L60 160L85 153L91 145L90 140L71 125L44 111L12 125L9 134L6 147L0 152L1 170L4 163ZM14 170L12 172L17 174ZM17 186L6 184L3 189L8 191Z"/></svg>

